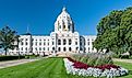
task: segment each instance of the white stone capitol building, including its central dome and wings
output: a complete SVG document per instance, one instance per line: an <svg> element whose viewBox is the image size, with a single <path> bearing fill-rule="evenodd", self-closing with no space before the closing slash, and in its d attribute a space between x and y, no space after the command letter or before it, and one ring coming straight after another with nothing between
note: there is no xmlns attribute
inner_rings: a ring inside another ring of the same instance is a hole
<svg viewBox="0 0 132 78"><path fill-rule="evenodd" d="M20 35L19 48L9 49L9 55L52 55L59 53L96 53L93 42L96 35L80 35L67 9L58 15L50 35Z"/></svg>

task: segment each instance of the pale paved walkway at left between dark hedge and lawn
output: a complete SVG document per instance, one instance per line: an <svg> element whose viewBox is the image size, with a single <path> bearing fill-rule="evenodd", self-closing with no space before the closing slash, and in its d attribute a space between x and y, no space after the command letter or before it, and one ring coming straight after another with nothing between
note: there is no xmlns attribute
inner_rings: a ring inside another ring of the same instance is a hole
<svg viewBox="0 0 132 78"><path fill-rule="evenodd" d="M20 64L25 64L25 63L35 62L35 60L38 60L38 59L19 59L19 60L0 62L0 68L16 66Z"/></svg>

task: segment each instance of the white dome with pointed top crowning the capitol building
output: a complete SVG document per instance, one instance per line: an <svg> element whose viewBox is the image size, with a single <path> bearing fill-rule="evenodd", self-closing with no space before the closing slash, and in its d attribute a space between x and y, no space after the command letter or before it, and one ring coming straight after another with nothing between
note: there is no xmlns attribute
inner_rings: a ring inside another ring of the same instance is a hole
<svg viewBox="0 0 132 78"><path fill-rule="evenodd" d="M67 9L63 8L62 12L57 18L55 22L55 31L56 32L74 32L74 23L67 12Z"/></svg>

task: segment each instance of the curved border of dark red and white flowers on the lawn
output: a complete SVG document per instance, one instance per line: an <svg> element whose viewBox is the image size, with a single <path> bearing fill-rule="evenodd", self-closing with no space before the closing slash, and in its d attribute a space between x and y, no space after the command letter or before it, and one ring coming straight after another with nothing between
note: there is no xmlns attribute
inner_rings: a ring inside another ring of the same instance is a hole
<svg viewBox="0 0 132 78"><path fill-rule="evenodd" d="M70 57L63 58L63 60L68 74L93 77L106 76L108 78L115 76L124 76L128 74L128 69L116 65L106 64L101 66L88 66Z"/></svg>

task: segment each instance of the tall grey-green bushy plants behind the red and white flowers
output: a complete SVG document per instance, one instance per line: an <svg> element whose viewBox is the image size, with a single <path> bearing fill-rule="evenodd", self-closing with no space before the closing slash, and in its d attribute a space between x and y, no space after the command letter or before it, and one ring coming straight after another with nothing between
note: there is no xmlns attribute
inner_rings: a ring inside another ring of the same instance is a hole
<svg viewBox="0 0 132 78"><path fill-rule="evenodd" d="M81 54L72 54L70 56L74 60L79 60L85 63L89 66L101 66L106 64L113 64L111 59L111 54L103 54L103 53L81 53Z"/></svg>

